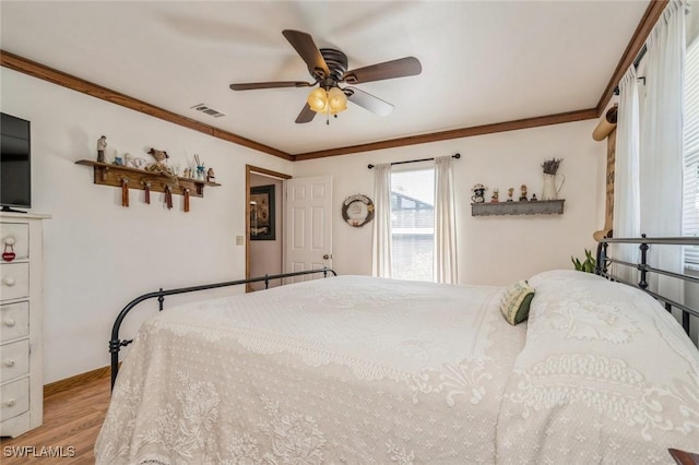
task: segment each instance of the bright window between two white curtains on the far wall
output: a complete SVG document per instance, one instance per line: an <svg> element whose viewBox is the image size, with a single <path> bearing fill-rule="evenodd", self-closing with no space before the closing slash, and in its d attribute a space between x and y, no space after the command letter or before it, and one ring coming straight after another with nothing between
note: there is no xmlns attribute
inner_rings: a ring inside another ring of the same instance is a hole
<svg viewBox="0 0 699 465"><path fill-rule="evenodd" d="M433 281L435 169L391 172L392 275Z"/></svg>

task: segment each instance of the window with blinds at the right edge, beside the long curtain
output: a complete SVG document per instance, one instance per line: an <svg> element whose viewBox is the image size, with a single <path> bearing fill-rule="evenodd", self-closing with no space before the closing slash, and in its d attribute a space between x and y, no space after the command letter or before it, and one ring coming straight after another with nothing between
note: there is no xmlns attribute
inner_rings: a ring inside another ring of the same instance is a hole
<svg viewBox="0 0 699 465"><path fill-rule="evenodd" d="M699 236L699 40L685 55L683 235ZM685 248L685 266L699 270L699 247Z"/></svg>

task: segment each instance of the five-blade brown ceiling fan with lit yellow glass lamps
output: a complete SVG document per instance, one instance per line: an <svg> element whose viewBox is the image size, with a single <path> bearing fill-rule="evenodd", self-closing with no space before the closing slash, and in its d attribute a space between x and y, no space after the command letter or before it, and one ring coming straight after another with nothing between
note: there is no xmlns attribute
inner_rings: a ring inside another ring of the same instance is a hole
<svg viewBox="0 0 699 465"><path fill-rule="evenodd" d="M313 38L304 32L282 31L286 40L292 44L296 52L308 65L313 82L306 81L273 81L230 84L233 91L252 91L274 87L315 87L301 109L297 123L310 122L317 112L337 116L347 107L347 100L367 110L386 116L393 110L393 105L371 94L347 85L365 82L417 75L423 71L419 60L415 57L399 58L398 60L371 64L365 68L347 71L347 56L333 48L318 48Z"/></svg>

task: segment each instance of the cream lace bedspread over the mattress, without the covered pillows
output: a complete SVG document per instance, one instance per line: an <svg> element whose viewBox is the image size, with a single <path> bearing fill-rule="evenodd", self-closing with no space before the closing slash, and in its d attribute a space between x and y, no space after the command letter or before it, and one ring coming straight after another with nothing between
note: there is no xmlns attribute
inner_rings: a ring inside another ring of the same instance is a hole
<svg viewBox="0 0 699 465"><path fill-rule="evenodd" d="M97 463L495 463L526 332L501 293L341 276L167 309L126 357Z"/></svg>

